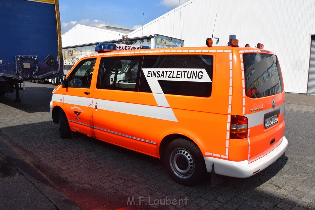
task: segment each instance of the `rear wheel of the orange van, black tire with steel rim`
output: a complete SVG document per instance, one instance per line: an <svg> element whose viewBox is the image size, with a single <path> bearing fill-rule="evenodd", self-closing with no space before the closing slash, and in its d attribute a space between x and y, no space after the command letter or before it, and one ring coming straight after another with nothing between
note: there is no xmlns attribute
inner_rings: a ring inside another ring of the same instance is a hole
<svg viewBox="0 0 315 210"><path fill-rule="evenodd" d="M167 172L175 182L192 185L205 174L205 164L198 146L187 139L176 139L169 143L164 153Z"/></svg>

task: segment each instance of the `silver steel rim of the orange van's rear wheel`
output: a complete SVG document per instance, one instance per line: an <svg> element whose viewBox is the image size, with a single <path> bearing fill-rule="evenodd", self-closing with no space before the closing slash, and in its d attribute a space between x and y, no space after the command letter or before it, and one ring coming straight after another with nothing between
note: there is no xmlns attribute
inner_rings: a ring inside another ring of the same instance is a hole
<svg viewBox="0 0 315 210"><path fill-rule="evenodd" d="M176 176L186 179L192 176L195 162L189 151L184 148L176 148L171 152L169 163Z"/></svg>

